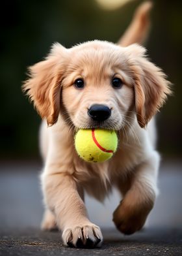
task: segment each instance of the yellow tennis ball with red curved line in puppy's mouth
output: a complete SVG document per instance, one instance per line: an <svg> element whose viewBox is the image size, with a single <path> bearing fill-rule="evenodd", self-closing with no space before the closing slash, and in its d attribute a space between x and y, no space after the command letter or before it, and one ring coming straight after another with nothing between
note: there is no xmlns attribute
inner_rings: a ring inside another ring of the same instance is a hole
<svg viewBox="0 0 182 256"><path fill-rule="evenodd" d="M112 157L118 146L115 131L80 129L75 135L75 149L85 161L101 163Z"/></svg>

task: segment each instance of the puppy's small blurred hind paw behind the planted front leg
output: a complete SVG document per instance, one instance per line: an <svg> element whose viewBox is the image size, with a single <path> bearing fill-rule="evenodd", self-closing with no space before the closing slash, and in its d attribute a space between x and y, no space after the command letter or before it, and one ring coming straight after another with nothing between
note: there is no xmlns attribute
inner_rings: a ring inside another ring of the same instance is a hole
<svg viewBox="0 0 182 256"><path fill-rule="evenodd" d="M46 210L44 214L44 218L41 223L41 229L43 231L53 231L57 229L55 216L49 210Z"/></svg>

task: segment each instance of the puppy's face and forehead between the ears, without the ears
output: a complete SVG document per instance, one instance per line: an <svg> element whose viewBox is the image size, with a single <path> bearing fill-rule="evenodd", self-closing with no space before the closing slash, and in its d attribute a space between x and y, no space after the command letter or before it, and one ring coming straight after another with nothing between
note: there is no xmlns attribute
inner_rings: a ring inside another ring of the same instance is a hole
<svg viewBox="0 0 182 256"><path fill-rule="evenodd" d="M119 46L89 42L70 51L62 102L77 128L119 130L134 106L133 78Z"/></svg>

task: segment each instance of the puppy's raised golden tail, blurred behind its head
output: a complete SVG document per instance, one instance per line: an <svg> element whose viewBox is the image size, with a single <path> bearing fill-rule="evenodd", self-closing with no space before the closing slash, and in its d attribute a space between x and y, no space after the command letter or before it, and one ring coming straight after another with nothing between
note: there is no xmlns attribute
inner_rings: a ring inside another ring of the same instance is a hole
<svg viewBox="0 0 182 256"><path fill-rule="evenodd" d="M149 12L152 5L151 1L146 1L136 9L131 24L118 41L120 46L128 46L135 42L138 44L144 44L149 33Z"/></svg>

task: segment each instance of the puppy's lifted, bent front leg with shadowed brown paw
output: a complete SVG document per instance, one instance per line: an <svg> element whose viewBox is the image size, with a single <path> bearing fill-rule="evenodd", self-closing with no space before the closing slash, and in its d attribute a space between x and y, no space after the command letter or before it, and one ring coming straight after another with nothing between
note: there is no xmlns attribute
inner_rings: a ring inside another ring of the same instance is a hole
<svg viewBox="0 0 182 256"><path fill-rule="evenodd" d="M159 154L151 156L133 170L127 182L118 185L123 194L123 200L114 211L113 221L124 234L133 234L140 230L153 208L157 195L157 172Z"/></svg>

